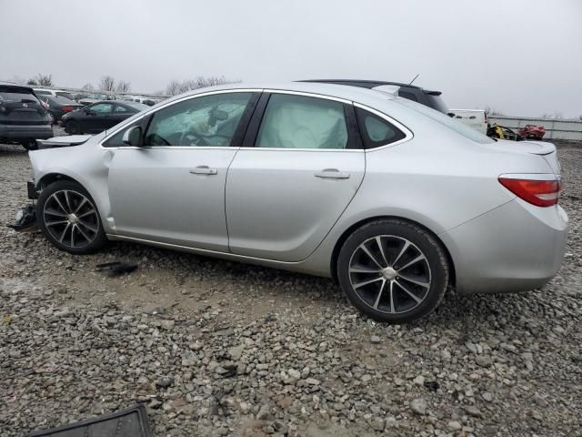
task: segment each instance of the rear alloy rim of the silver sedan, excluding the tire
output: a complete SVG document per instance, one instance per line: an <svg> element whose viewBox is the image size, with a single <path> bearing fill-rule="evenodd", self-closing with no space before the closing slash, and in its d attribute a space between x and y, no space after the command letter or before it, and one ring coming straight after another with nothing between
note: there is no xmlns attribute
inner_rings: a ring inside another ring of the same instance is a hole
<svg viewBox="0 0 582 437"><path fill-rule="evenodd" d="M414 310L430 290L431 271L425 254L402 237L366 239L352 253L348 269L357 297L377 311L398 314Z"/></svg>

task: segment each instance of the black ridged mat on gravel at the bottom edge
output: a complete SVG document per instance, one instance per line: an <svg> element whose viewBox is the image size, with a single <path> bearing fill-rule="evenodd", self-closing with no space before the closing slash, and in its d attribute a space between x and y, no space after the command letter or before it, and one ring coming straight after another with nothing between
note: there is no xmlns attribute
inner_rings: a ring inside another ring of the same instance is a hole
<svg viewBox="0 0 582 437"><path fill-rule="evenodd" d="M35 431L28 437L152 437L143 405L105 414L52 430Z"/></svg>

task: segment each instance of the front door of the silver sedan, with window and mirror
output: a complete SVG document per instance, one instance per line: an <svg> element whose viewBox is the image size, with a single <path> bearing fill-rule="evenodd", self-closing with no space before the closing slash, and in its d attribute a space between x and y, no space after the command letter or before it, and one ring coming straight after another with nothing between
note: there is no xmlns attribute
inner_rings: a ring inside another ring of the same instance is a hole
<svg viewBox="0 0 582 437"><path fill-rule="evenodd" d="M156 111L143 147L120 147L125 129L106 141L114 155L108 188L115 233L227 251L226 169L252 97L250 92L193 97Z"/></svg>

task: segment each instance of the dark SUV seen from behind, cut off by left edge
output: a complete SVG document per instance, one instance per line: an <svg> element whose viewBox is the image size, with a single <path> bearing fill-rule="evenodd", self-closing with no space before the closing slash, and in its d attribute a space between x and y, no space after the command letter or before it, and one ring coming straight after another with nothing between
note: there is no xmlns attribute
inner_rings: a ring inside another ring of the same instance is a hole
<svg viewBox="0 0 582 437"><path fill-rule="evenodd" d="M28 86L0 82L0 143L36 147L35 139L53 137L51 116Z"/></svg>

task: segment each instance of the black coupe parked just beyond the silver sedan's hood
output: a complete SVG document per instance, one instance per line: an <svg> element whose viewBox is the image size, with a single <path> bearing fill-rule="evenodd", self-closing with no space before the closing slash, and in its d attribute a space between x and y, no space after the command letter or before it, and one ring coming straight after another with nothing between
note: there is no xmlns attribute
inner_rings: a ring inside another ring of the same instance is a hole
<svg viewBox="0 0 582 437"><path fill-rule="evenodd" d="M96 134L147 108L149 107L141 103L124 100L103 101L68 112L61 117L61 122L67 134Z"/></svg>

